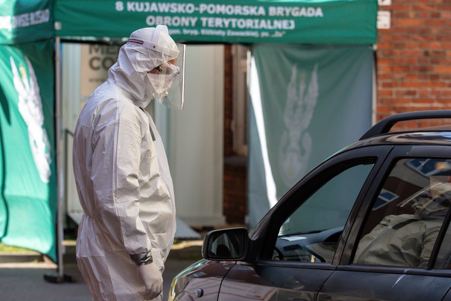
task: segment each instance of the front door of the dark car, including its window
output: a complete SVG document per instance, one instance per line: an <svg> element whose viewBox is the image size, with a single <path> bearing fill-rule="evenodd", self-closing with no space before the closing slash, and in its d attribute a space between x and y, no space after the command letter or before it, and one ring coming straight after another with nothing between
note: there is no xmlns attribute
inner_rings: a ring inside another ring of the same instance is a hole
<svg viewBox="0 0 451 301"><path fill-rule="evenodd" d="M316 300L390 149L345 151L299 182L251 233L251 254L227 273L218 301Z"/></svg>

